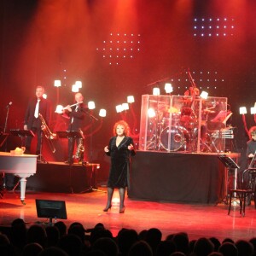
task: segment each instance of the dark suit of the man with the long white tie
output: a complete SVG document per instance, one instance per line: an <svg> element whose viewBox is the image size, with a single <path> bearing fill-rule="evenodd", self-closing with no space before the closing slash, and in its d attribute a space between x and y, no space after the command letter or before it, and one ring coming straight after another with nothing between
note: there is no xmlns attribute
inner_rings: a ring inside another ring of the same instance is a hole
<svg viewBox="0 0 256 256"><path fill-rule="evenodd" d="M28 102L26 113L25 113L25 119L24 119L24 125L27 125L28 130L32 130L34 133L37 133L38 136L38 143L37 143L37 152L36 154L40 153L41 148L41 119L35 118L35 108L38 102L38 98L34 97L32 100ZM39 110L38 113L41 113L44 117L44 120L47 125L49 125L49 119L50 119L50 104L49 101L41 98L39 102ZM32 143L32 137L26 137L26 152L30 152L31 149L31 143Z"/></svg>

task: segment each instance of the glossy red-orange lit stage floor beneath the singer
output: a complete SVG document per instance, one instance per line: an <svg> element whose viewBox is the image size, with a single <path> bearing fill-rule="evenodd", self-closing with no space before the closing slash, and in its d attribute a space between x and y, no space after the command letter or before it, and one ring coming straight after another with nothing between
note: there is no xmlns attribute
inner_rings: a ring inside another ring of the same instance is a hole
<svg viewBox="0 0 256 256"><path fill-rule="evenodd" d="M125 198L125 213L119 214L119 194L113 195L113 207L109 212L102 212L107 201L106 188L81 194L49 193L26 191L26 205L20 203L20 191L7 192L0 199L0 225L7 227L15 218L23 218L27 225L47 219L37 217L35 199L66 201L67 226L79 221L85 229L90 229L101 222L117 236L122 228L134 229L137 232L158 228L162 239L167 235L185 231L189 240L202 236L217 237L220 241L230 237L250 239L256 236L256 210L251 205L246 207L244 218L239 214L239 207L232 207L230 216L228 206L223 202L216 206L202 204L182 204L171 202L138 201Z"/></svg>

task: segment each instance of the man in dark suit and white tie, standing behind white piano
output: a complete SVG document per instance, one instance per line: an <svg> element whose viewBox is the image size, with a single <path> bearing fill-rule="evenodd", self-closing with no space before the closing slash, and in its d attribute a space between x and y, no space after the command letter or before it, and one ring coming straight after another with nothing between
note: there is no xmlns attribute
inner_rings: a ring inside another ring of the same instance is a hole
<svg viewBox="0 0 256 256"><path fill-rule="evenodd" d="M37 134L38 143L36 154L41 154L41 130L44 129L44 127L42 127L42 121L39 118L39 113L43 115L47 125L50 120L50 103L49 100L43 98L43 95L44 87L38 85L36 87L36 96L28 102L24 119L24 130L32 130ZM26 137L25 154L31 154L31 143L32 137Z"/></svg>

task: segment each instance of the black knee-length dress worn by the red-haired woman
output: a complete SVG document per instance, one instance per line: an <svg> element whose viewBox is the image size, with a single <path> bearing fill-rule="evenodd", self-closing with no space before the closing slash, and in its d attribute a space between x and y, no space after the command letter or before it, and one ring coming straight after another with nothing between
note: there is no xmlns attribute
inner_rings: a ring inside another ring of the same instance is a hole
<svg viewBox="0 0 256 256"><path fill-rule="evenodd" d="M110 139L108 144L109 152L106 152L106 154L111 157L108 187L125 188L129 185L131 155L135 155L135 151L129 150L128 146L134 144L131 137L124 137L117 147L116 138L117 137L112 137Z"/></svg>

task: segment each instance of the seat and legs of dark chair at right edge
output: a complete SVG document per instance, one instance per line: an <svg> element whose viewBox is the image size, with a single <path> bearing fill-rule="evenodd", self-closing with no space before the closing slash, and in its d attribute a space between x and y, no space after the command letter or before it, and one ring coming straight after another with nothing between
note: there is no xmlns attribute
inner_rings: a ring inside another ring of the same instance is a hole
<svg viewBox="0 0 256 256"><path fill-rule="evenodd" d="M245 216L245 207L246 207L246 198L247 196L253 195L254 200L254 207L256 208L256 197L253 189L230 189L230 203L229 203L229 212L228 215L230 215L231 210L231 204L232 204L232 198L238 198L239 199L239 205L240 205L240 214L242 217Z"/></svg>

